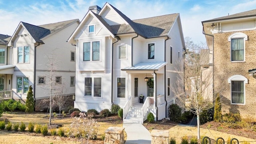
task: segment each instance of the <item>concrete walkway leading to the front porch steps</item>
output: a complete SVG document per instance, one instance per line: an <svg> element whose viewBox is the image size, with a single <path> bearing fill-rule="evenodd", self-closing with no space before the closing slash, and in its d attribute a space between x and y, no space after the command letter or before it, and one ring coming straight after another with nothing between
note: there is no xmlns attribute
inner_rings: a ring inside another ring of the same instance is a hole
<svg viewBox="0 0 256 144"><path fill-rule="evenodd" d="M142 124L123 124L127 139L124 144L151 144L150 132Z"/></svg>

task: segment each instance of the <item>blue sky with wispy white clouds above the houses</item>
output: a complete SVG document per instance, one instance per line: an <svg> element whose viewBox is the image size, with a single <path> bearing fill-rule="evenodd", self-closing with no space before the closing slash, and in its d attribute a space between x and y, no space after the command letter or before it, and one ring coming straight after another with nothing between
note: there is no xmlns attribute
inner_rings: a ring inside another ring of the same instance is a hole
<svg viewBox="0 0 256 144"><path fill-rule="evenodd" d="M0 0L0 34L12 36L20 21L34 25L78 18L108 2L131 20L180 13L184 37L205 42L201 21L256 9L256 0Z"/></svg>

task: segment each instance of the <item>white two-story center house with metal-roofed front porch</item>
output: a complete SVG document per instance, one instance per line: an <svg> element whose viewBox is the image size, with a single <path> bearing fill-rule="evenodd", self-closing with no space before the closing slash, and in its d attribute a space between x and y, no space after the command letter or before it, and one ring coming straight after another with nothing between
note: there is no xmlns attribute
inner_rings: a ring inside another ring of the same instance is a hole
<svg viewBox="0 0 256 144"><path fill-rule="evenodd" d="M166 117L176 99L168 85L183 73L178 13L130 20L109 3L90 6L68 42L76 45L75 108L101 111L118 104L125 117L142 94L144 110Z"/></svg>

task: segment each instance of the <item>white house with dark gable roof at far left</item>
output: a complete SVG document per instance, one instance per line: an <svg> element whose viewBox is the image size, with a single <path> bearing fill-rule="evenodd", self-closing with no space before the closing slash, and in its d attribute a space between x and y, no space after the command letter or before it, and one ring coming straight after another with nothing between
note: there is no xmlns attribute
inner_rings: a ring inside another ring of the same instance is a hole
<svg viewBox="0 0 256 144"><path fill-rule="evenodd" d="M79 23L78 19L41 26L20 22L4 54L7 62L0 66L4 90L26 99L28 87L32 85L34 99L49 97L50 59L57 61L52 80L65 84L64 95L74 95L76 47L66 40Z"/></svg>

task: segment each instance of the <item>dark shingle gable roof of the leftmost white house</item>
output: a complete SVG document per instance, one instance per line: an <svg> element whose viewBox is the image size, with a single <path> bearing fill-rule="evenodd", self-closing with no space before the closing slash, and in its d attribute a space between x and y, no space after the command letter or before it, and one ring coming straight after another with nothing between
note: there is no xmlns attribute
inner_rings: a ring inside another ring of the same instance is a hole
<svg viewBox="0 0 256 144"><path fill-rule="evenodd" d="M52 24L44 24L44 25L40 25L40 26L35 26L32 24L28 24L26 22L20 22L19 26L16 28L16 31L14 32L12 38L14 38L14 36L18 33L20 26L23 26L28 33L30 34L30 36L35 40L35 42L44 44L44 42L42 41L42 38L57 32L58 30L62 30L64 27L68 26L71 23L77 22L79 21L78 19L74 19L74 20L67 20L67 21L63 21L63 22L56 22L56 23L52 23ZM12 40L11 38L11 40Z"/></svg>

